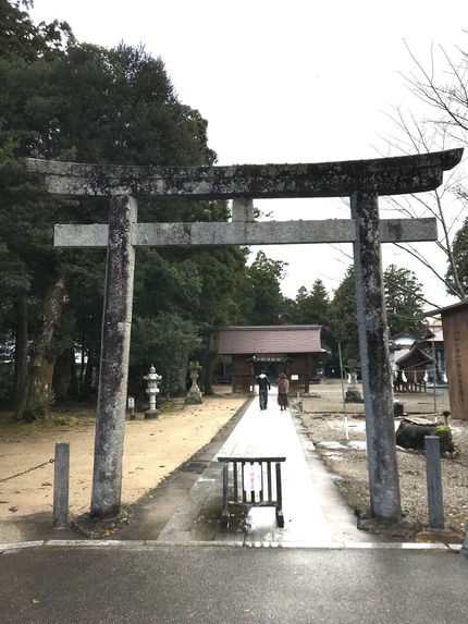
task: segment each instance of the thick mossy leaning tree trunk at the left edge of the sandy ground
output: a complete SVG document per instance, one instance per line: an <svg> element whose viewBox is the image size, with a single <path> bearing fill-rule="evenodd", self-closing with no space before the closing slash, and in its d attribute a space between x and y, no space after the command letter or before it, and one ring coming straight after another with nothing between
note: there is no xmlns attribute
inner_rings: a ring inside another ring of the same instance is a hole
<svg viewBox="0 0 468 624"><path fill-rule="evenodd" d="M53 335L65 302L65 282L63 278L58 278L44 297L41 331L35 339L25 391L15 414L16 420L32 423L49 417L53 399L52 375L56 363Z"/></svg>

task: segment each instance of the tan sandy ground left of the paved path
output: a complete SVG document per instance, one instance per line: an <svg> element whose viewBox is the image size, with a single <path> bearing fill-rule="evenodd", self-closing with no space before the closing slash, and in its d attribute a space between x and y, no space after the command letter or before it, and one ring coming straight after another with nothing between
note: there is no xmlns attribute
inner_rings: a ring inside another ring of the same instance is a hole
<svg viewBox="0 0 468 624"><path fill-rule="evenodd" d="M125 423L122 503L133 504L208 444L245 403L245 396L176 402L161 418ZM61 426L0 424L0 518L52 512L56 442L70 442L70 514L89 511L96 420L69 412Z"/></svg>

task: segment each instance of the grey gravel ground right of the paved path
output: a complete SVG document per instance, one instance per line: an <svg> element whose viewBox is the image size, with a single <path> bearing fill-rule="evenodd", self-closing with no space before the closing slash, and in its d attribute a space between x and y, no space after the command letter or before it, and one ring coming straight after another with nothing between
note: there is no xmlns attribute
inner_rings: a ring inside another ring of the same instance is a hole
<svg viewBox="0 0 468 624"><path fill-rule="evenodd" d="M361 528L394 534L394 537L439 540L441 533L452 542L461 542L468 522L468 421L448 419L456 446L453 457L442 458L442 487L445 530L428 530L426 457L421 451L397 446L399 489L404 521L398 527L366 526L368 517L369 474L366 453L366 425L362 404L343 405L340 383L324 381L312 388L310 397L303 400L301 419L317 452L336 475L336 485L360 518ZM346 390L346 388L344 389ZM361 388L358 386L358 390ZM434 420L449 409L446 389L428 389L427 393L397 394L405 416ZM344 409L346 408L346 417ZM395 428L399 424L395 418ZM347 438L346 439L346 430Z"/></svg>

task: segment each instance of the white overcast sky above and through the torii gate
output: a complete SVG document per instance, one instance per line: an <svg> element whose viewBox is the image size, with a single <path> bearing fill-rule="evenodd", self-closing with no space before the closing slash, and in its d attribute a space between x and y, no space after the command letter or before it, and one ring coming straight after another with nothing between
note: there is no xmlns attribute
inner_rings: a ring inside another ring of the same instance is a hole
<svg viewBox="0 0 468 624"><path fill-rule="evenodd" d="M457 46L468 49L467 0L35 0L32 15L67 21L81 41L144 44L161 57L180 100L208 120L218 164L386 155L392 107L424 114L402 76L415 70L405 41L424 66L431 45L455 59ZM256 205L278 220L349 217L341 200ZM435 243L423 245L444 273ZM288 262L282 287L290 297L317 278L332 294L352 262L345 245L262 249ZM383 262L414 270L433 304L454 303L408 254L384 245Z"/></svg>

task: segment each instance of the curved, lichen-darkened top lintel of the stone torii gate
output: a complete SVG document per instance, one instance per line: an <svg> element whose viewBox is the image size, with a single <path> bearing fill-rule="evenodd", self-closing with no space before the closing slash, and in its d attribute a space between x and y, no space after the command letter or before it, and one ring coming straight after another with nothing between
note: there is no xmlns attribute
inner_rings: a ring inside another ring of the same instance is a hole
<svg viewBox="0 0 468 624"><path fill-rule="evenodd" d="M27 159L49 192L62 196L172 196L193 199L349 197L433 191L463 148L432 154L298 164L137 167Z"/></svg>

